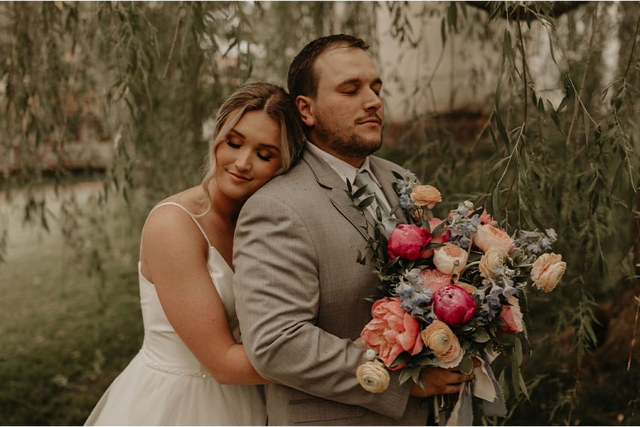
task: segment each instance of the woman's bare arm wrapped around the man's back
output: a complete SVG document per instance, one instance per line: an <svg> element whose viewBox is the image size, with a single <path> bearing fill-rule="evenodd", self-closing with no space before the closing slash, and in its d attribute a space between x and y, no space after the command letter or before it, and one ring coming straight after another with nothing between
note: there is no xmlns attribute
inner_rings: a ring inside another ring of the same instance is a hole
<svg viewBox="0 0 640 427"><path fill-rule="evenodd" d="M208 246L181 209L157 209L142 236L142 273L178 336L220 384L265 384L231 334L207 270Z"/></svg>

